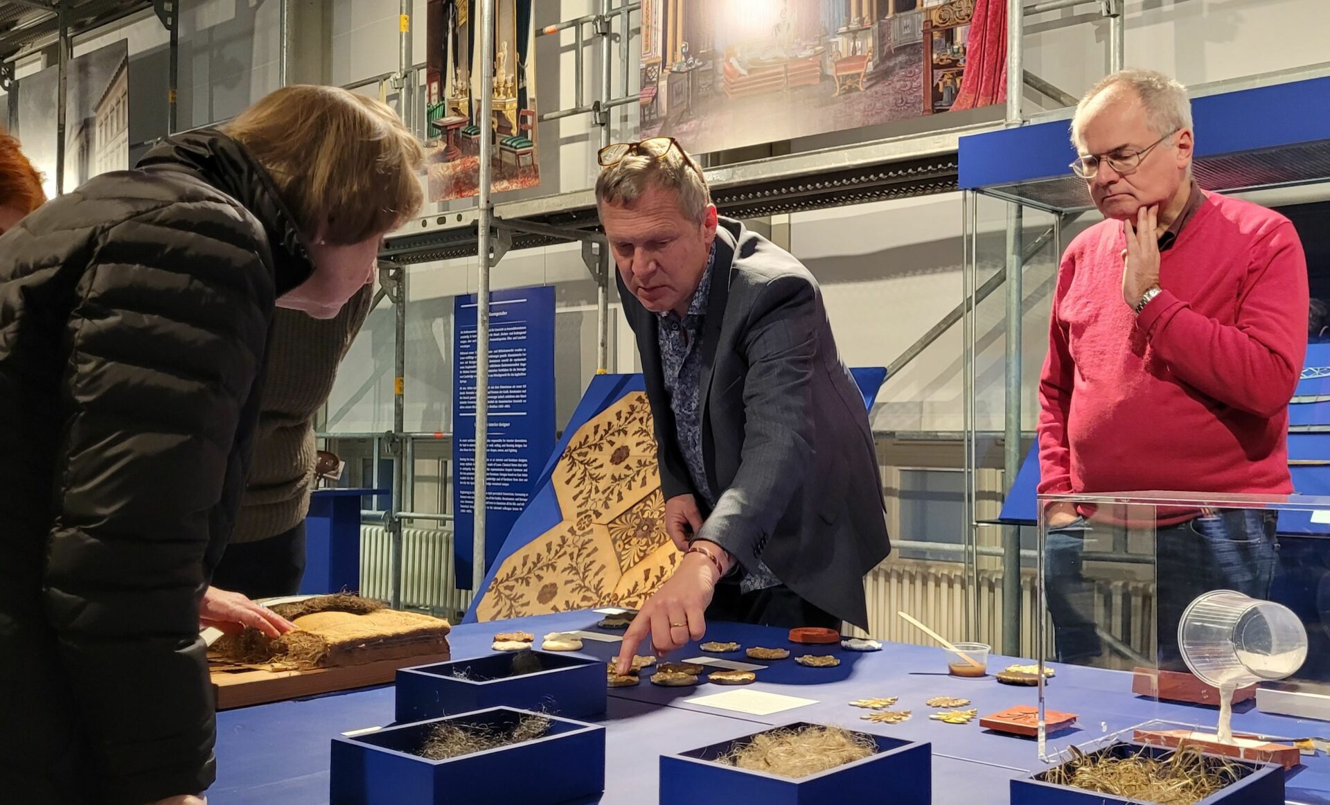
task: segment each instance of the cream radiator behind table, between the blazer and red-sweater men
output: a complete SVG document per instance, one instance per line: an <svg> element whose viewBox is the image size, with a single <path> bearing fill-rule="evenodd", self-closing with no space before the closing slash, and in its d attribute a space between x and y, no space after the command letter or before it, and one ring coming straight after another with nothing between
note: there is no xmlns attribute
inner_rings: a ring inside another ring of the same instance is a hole
<svg viewBox="0 0 1330 805"><path fill-rule="evenodd" d="M1096 585L1095 620L1104 631L1121 640L1132 651L1154 655L1154 584L1150 581L1124 581L1092 579ZM896 643L931 645L932 640L911 627L896 612L904 609L928 624L938 633L952 640L979 640L994 647L1003 645L1003 588L1000 571L979 571L974 604L967 601L967 573L956 562L926 562L888 559L864 579L868 601L868 631L850 629L859 636ZM1025 569L1020 577L1020 653L1033 659L1035 612L1039 609L1039 591L1035 572ZM966 628L966 607L975 607L975 628ZM1052 639L1052 625L1045 620L1045 635Z"/></svg>

